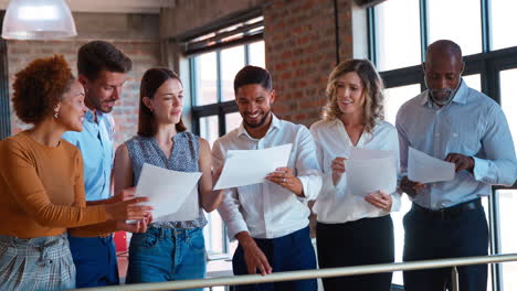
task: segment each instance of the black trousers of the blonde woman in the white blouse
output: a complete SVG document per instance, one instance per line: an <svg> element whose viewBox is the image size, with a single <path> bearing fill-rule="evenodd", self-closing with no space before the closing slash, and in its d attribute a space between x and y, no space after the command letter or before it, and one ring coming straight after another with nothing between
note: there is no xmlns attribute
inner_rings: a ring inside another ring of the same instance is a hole
<svg viewBox="0 0 517 291"><path fill-rule="evenodd" d="M337 268L394 261L391 216L362 218L345 224L318 223L319 268ZM392 273L324 278L325 291L389 291Z"/></svg>

